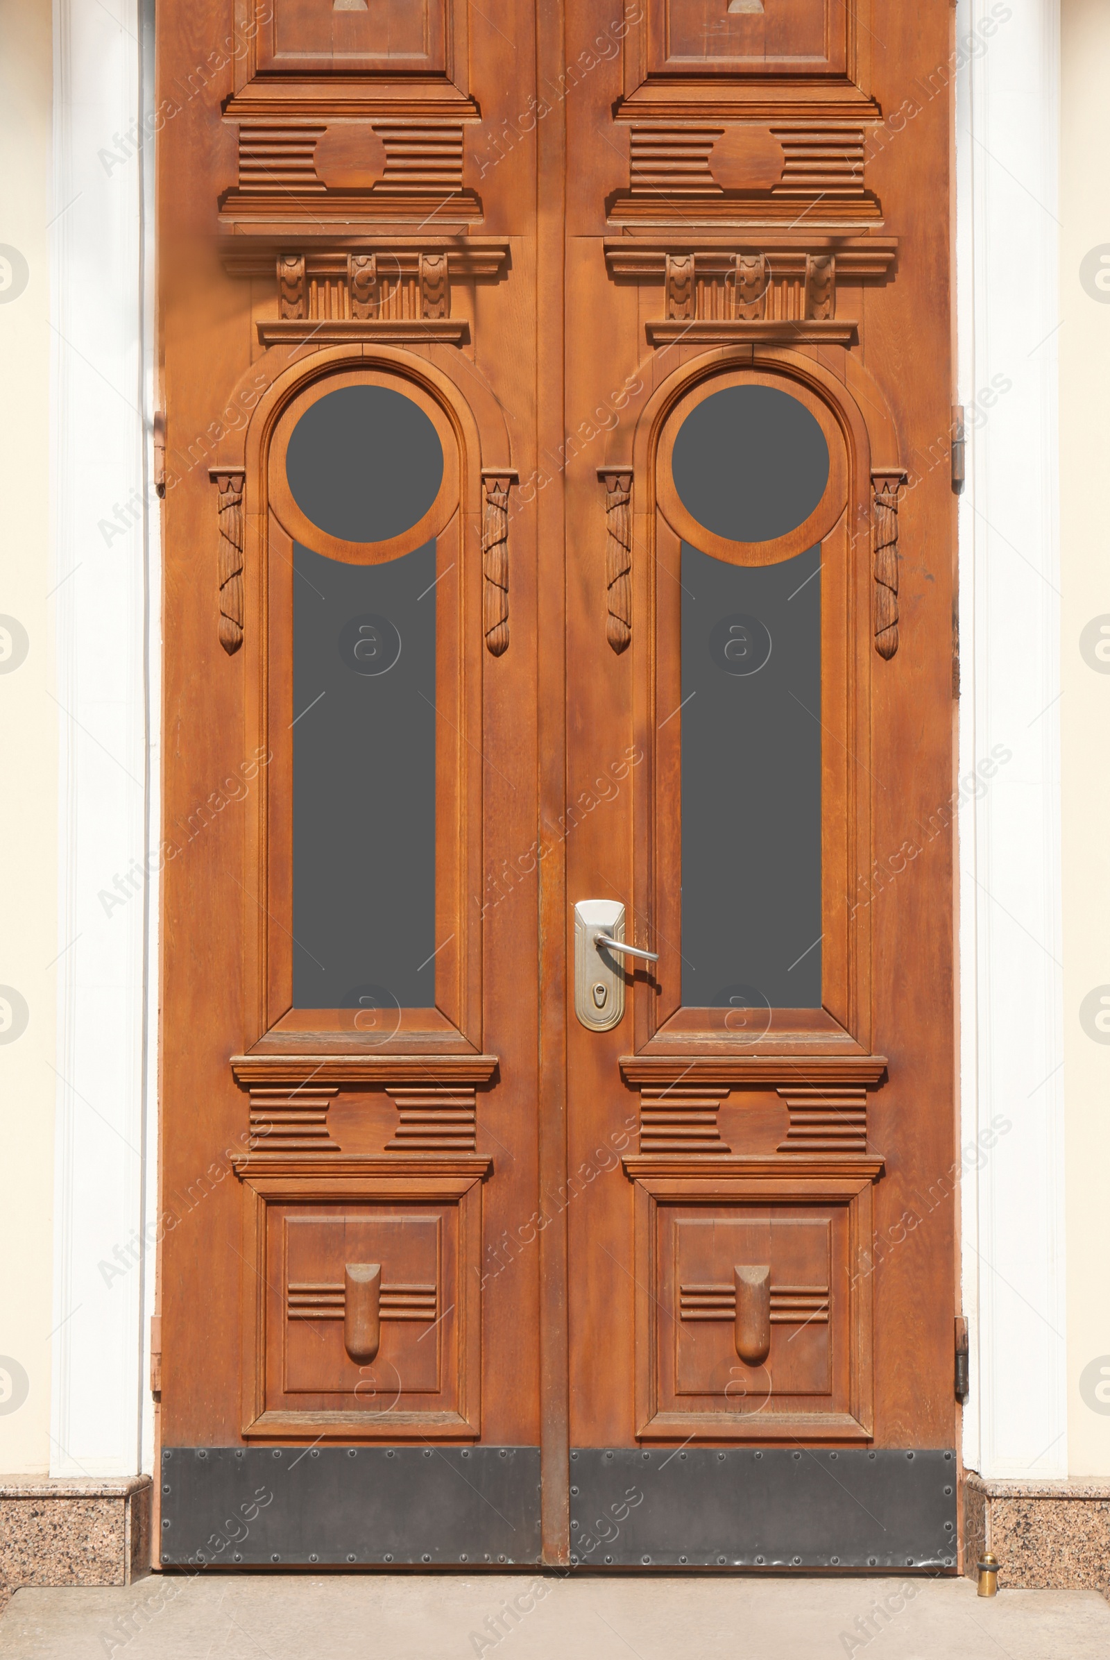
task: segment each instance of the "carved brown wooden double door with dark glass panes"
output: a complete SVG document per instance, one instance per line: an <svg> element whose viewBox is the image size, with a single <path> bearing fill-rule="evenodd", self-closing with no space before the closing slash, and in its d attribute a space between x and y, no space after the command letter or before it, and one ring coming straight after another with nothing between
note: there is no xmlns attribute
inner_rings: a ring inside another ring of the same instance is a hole
<svg viewBox="0 0 1110 1660"><path fill-rule="evenodd" d="M159 7L163 1565L954 1569L952 17Z"/></svg>

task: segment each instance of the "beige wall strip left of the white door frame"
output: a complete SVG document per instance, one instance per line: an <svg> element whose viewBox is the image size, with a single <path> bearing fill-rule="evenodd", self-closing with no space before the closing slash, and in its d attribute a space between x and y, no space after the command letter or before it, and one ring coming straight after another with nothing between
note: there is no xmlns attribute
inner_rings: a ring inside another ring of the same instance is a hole
<svg viewBox="0 0 1110 1660"><path fill-rule="evenodd" d="M48 696L50 0L0 0L0 244L17 247L28 266L27 287L15 299L7 299L12 286L0 267L0 616L15 618L28 639L25 661L10 667L15 657L0 636L0 988L13 986L28 1008L22 1036L3 1041L0 1029L0 1471L23 1474L50 1464L55 1323L55 969L48 964L60 941L58 715ZM3 1004L0 1026L13 1031ZM18 1406L20 1374L5 1356L30 1384Z"/></svg>

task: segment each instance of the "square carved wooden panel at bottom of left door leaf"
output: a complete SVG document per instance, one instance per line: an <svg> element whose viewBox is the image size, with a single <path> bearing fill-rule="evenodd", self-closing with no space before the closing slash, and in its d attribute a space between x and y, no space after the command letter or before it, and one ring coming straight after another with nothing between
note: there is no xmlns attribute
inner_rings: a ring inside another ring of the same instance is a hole
<svg viewBox="0 0 1110 1660"><path fill-rule="evenodd" d="M488 1160L252 1155L244 1434L397 1439L480 1426Z"/></svg>

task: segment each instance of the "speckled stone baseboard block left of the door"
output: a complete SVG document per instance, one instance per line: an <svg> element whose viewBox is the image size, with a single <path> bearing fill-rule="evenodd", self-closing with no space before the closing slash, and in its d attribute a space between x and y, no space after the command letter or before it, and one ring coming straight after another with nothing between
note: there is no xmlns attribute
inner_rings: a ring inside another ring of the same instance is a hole
<svg viewBox="0 0 1110 1660"><path fill-rule="evenodd" d="M0 1609L20 1585L129 1585L149 1572L151 1477L0 1476Z"/></svg>

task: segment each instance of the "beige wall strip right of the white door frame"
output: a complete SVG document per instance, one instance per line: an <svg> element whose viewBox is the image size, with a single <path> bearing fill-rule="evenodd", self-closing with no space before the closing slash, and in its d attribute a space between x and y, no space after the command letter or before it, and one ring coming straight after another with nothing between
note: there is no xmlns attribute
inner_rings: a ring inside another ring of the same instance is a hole
<svg viewBox="0 0 1110 1660"><path fill-rule="evenodd" d="M1060 533L1069 1474L1110 1476L1110 7L1062 0ZM1107 287L1085 256L1103 246ZM1020 282L1020 249L1014 281ZM1105 618L1107 651L1093 654ZM1087 626L1095 622L1088 636ZM1107 996L1107 1031L1093 1016ZM1092 996L1093 994L1093 996ZM1092 1001L1083 1006L1083 999ZM1093 1004L1093 1008L1092 1008ZM1098 1034L1097 1038L1092 1033ZM1102 1366L1105 1401L1093 1393ZM1083 1373L1087 1376L1083 1378ZM1093 1403L1093 1404L1092 1404ZM1098 1409L1102 1406L1102 1411Z"/></svg>

